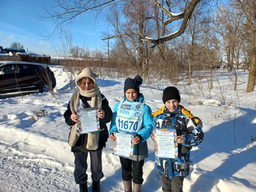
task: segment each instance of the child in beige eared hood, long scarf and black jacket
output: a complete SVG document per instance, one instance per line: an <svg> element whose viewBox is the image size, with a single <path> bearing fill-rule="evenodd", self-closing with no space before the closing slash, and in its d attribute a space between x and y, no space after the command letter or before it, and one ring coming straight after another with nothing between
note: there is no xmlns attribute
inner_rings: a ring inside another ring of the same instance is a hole
<svg viewBox="0 0 256 192"><path fill-rule="evenodd" d="M96 83L97 74L91 68L76 71L76 85L78 89L73 93L67 110L64 113L65 122L71 126L68 144L75 156L74 177L79 184L80 192L87 192L87 156L90 153L92 172L92 192L100 192L100 179L104 177L102 172L102 149L106 147L108 140L107 123L112 117L112 110L108 105L106 97L100 93ZM77 131L76 110L83 108L98 107L100 120L100 132L91 132L79 135Z"/></svg>

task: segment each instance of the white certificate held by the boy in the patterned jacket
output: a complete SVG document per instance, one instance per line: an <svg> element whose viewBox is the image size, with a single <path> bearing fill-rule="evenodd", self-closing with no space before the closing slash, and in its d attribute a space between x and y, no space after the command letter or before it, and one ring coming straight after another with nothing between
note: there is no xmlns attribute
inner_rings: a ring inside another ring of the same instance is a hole
<svg viewBox="0 0 256 192"><path fill-rule="evenodd" d="M177 137L175 129L156 129L155 137L156 156L164 158L178 157L178 143L174 140Z"/></svg>

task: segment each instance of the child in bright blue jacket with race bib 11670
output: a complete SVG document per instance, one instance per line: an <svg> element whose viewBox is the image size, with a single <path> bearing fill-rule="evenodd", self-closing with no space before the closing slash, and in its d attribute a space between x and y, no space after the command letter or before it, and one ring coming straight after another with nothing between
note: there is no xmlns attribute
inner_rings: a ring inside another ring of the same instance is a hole
<svg viewBox="0 0 256 192"><path fill-rule="evenodd" d="M150 137L153 126L151 109L144 104L144 96L140 93L139 85L141 84L142 78L138 75L134 79L128 78L125 80L124 99L114 107L109 130L109 138L112 141L116 140L114 132L128 133L134 136L132 157L119 156L125 192L140 192L143 183L142 167L144 159L148 157L146 140Z"/></svg>

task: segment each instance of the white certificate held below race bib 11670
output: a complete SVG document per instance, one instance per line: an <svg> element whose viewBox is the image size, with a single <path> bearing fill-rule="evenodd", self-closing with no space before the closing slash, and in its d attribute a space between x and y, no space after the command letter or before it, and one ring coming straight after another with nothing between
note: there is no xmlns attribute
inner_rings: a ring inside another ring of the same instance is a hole
<svg viewBox="0 0 256 192"><path fill-rule="evenodd" d="M116 141L114 144L114 155L131 157L133 154L132 134L114 133Z"/></svg>

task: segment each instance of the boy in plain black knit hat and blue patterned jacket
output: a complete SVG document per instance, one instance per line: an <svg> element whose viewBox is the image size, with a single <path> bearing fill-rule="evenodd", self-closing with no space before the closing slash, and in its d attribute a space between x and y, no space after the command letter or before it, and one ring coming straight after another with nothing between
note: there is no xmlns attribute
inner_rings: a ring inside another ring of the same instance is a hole
<svg viewBox="0 0 256 192"><path fill-rule="evenodd" d="M193 116L180 103L180 93L176 87L166 87L163 92L163 102L155 113L153 129L175 129L178 143L177 158L155 156L155 168L162 183L163 192L182 192L183 180L189 174L189 155L193 146L203 141L202 122ZM152 133L152 139L156 131Z"/></svg>

